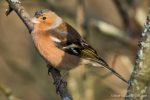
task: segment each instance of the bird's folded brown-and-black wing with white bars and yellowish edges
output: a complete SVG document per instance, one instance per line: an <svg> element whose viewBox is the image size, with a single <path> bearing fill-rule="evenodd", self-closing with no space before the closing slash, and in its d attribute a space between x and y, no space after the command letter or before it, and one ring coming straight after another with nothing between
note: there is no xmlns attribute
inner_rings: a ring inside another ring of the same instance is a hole
<svg viewBox="0 0 150 100"><path fill-rule="evenodd" d="M80 34L69 24L62 23L53 30L53 36L60 39L56 45L65 52L87 59L98 59L97 52L81 38Z"/></svg>

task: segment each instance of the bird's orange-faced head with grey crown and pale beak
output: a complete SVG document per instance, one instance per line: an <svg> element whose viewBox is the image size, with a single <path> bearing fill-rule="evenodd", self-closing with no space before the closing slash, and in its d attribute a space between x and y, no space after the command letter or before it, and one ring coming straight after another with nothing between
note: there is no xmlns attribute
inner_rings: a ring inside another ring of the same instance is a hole
<svg viewBox="0 0 150 100"><path fill-rule="evenodd" d="M62 23L62 19L55 12L48 9L36 11L31 21L34 23L34 28L40 30L54 29Z"/></svg>

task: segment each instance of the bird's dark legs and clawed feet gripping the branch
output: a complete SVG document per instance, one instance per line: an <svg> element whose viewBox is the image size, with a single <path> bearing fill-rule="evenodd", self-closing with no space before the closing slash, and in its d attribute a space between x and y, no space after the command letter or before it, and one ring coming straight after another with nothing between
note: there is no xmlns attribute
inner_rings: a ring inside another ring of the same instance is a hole
<svg viewBox="0 0 150 100"><path fill-rule="evenodd" d="M59 75L59 77L54 78L54 83L53 83L56 86L56 93L59 93L60 86L64 85L66 87L66 85L67 85L67 82L64 80L64 75L61 76L60 71L55 69L51 65L47 65L47 67L48 67L48 75L50 72L51 72L53 78L54 78L54 75L52 72L55 72L55 73L57 73L57 75Z"/></svg>

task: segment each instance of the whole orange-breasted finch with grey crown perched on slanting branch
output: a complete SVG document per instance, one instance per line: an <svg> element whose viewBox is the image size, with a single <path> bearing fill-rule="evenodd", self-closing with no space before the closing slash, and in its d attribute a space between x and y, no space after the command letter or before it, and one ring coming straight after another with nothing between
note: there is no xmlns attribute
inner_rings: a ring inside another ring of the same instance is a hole
<svg viewBox="0 0 150 100"><path fill-rule="evenodd" d="M78 65L101 66L128 84L103 60L97 51L71 25L49 9L35 12L31 18L31 36L41 57L58 70L69 71Z"/></svg>

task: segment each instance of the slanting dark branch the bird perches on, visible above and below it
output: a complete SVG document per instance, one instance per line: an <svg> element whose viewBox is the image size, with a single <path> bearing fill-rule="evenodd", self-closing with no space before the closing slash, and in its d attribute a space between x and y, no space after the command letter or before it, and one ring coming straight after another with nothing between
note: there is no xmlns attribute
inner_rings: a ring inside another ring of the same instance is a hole
<svg viewBox="0 0 150 100"><path fill-rule="evenodd" d="M33 30L33 23L30 21L30 16L26 12L25 8L21 5L21 2L19 0L6 0L6 1L9 4L9 8L6 11L6 15L9 15L14 10L28 28L29 33L31 33ZM62 80L60 72L57 71L57 69L53 68L52 66L50 65L48 66L51 67L50 72L52 74L54 82L60 82ZM72 100L66 88L66 83L60 82L59 87L57 86L57 84L55 84L55 86L62 100Z"/></svg>

